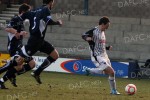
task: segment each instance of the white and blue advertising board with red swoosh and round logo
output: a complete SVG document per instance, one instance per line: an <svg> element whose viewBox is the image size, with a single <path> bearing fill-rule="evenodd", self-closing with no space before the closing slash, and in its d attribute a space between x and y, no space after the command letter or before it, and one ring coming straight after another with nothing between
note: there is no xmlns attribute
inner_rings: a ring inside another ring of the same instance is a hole
<svg viewBox="0 0 150 100"><path fill-rule="evenodd" d="M34 56L36 67L33 70L35 70L44 61L45 58L46 57ZM111 64L115 70L116 77L128 78L129 63L111 62ZM85 74L85 69L87 67L94 68L95 65L91 60L59 58L56 62L47 67L45 71Z"/></svg>

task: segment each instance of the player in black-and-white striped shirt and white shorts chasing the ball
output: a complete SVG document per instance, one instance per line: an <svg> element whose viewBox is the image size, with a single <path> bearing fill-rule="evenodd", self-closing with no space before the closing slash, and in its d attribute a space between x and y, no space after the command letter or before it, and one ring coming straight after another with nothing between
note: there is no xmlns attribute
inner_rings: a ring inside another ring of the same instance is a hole
<svg viewBox="0 0 150 100"><path fill-rule="evenodd" d="M96 68L87 68L87 75L89 74L105 74L109 75L108 81L110 83L111 94L119 95L116 90L116 81L114 69L111 66L106 50L110 50L112 47L106 47L105 30L108 29L110 24L108 17L102 17L99 20L99 25L92 30L84 33L82 38L87 41L91 49L91 60L95 64Z"/></svg>

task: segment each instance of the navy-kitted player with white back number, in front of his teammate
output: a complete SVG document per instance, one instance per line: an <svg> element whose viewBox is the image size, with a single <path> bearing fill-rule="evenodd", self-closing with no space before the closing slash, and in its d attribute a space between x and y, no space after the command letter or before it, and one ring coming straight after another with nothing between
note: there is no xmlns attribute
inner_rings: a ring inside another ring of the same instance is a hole
<svg viewBox="0 0 150 100"><path fill-rule="evenodd" d="M12 60L11 63L7 65L7 68L9 68L17 65L18 63L23 63L24 58L34 55L37 51L48 54L48 57L44 60L44 62L32 73L32 76L39 84L41 84L40 73L59 57L57 50L50 43L44 40L47 25L62 25L61 20L55 22L50 16L54 0L45 0L45 3L46 6L43 6L36 11L26 12L22 16L18 17L18 19L22 21L29 19L30 37L27 45L21 48L21 52L19 53L20 56L15 60ZM0 69L0 72L3 71Z"/></svg>

